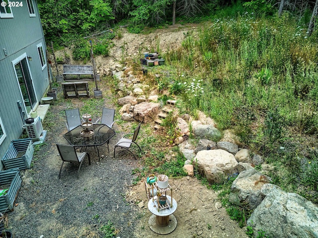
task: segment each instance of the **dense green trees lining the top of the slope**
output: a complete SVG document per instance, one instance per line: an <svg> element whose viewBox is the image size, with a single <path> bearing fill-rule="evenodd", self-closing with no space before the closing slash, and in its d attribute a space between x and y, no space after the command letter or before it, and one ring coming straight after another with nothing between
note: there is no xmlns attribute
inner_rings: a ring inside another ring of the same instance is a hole
<svg viewBox="0 0 318 238"><path fill-rule="evenodd" d="M313 11L315 2L309 0L245 0L243 3L239 0L38 0L47 40L60 43L109 28L123 19L132 32L139 32L144 26L174 24L178 16L191 20L194 16L214 14L213 11L231 4L262 15L289 11L300 19L300 24L310 23L310 33L317 12Z"/></svg>

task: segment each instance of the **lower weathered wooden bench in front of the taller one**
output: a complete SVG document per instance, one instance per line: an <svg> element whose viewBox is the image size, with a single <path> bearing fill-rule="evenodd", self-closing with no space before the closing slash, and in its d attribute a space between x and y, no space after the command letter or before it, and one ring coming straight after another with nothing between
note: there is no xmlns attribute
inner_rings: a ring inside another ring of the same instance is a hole
<svg viewBox="0 0 318 238"><path fill-rule="evenodd" d="M87 81L62 83L64 98L86 96L89 98Z"/></svg>

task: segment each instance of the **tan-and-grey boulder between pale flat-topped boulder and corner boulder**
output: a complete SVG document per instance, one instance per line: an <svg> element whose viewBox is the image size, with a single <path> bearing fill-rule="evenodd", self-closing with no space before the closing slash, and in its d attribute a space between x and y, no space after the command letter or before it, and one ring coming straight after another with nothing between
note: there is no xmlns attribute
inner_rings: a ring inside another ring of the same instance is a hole
<svg viewBox="0 0 318 238"><path fill-rule="evenodd" d="M229 201L238 206L247 205L250 209L255 209L264 198L261 194L262 186L270 180L254 169L242 171L232 183Z"/></svg>

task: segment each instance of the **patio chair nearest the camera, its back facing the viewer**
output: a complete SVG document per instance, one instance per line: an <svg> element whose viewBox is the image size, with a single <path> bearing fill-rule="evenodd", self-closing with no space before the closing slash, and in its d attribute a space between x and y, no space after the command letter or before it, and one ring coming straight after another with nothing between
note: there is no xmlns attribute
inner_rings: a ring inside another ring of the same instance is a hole
<svg viewBox="0 0 318 238"><path fill-rule="evenodd" d="M83 163L84 158L87 155L88 162L90 165L90 157L87 152L77 152L73 145L56 144L56 146L58 147L59 154L63 161L61 169L60 169L60 173L59 173L59 179L61 178L61 171L62 171L64 162L77 162L79 163L79 170L80 170L81 164ZM78 179L79 179L79 170L78 170Z"/></svg>

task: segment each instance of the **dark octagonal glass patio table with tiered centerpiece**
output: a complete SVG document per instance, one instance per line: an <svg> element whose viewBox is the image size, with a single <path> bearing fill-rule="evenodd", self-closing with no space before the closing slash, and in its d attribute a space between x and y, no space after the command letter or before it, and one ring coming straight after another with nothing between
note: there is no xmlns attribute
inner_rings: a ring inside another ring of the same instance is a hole
<svg viewBox="0 0 318 238"><path fill-rule="evenodd" d="M92 129L94 131L93 135L87 137L83 136L82 132L85 129L81 125L79 125L67 132L66 134L64 134L64 138L71 145L74 145L76 147L94 147L97 151L98 158L100 159L98 146L107 143L109 153L108 143L110 138L113 137L116 134L116 132L105 124L93 124L92 127L89 129Z"/></svg>

